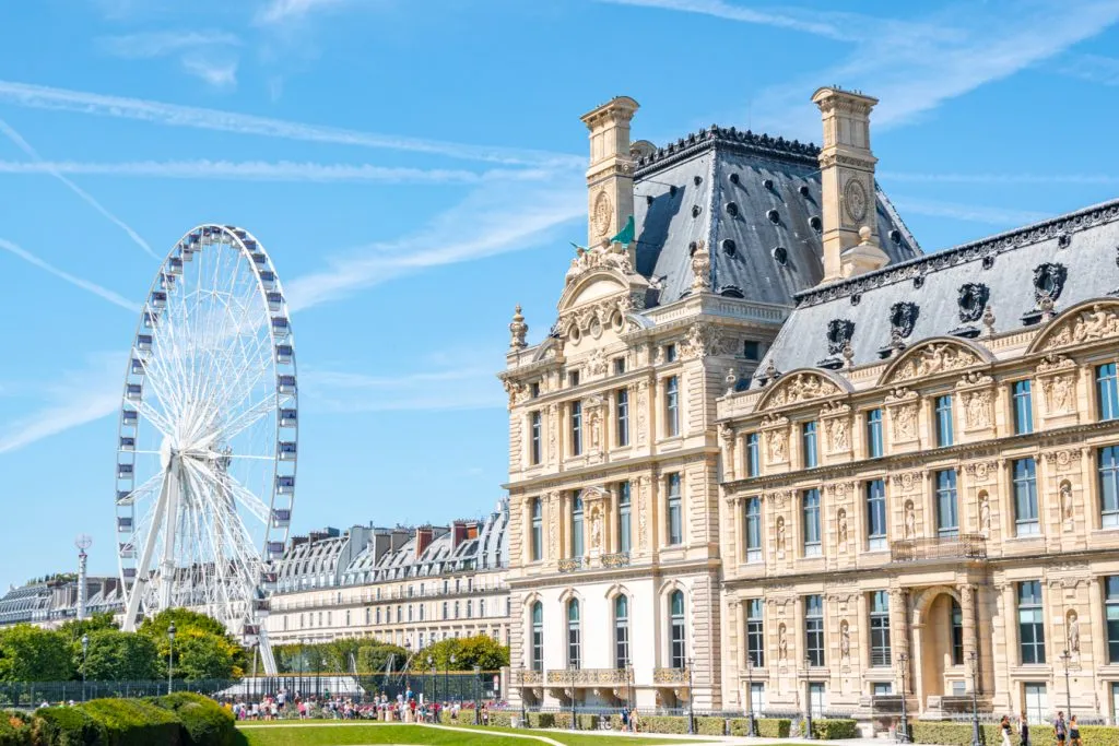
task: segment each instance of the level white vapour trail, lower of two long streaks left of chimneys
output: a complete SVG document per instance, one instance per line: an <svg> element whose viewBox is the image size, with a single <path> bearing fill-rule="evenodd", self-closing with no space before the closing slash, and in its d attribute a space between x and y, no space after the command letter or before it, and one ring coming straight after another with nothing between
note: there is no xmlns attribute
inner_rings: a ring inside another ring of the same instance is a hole
<svg viewBox="0 0 1119 746"><path fill-rule="evenodd" d="M551 176L543 169L389 168L367 163L313 163L297 161L0 161L0 173L78 173L126 178L228 179L244 181L352 181L379 183L462 183L486 181L539 181Z"/></svg>

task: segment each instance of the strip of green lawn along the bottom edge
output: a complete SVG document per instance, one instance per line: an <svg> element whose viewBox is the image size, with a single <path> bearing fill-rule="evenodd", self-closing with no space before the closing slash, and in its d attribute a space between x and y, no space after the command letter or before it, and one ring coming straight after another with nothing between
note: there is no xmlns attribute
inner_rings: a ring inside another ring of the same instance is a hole
<svg viewBox="0 0 1119 746"><path fill-rule="evenodd" d="M431 744L433 746L530 746L524 738L507 738L502 733L532 735L532 730L508 728L471 727L477 735L414 725L349 725L327 724L285 726L282 724L246 727L239 730L244 746L354 746L367 744ZM622 743L631 746L658 746L678 744L670 738L621 738L611 739L610 734L591 735L582 733L547 731L540 735L558 740L566 746L605 746ZM544 743L544 742L539 742ZM689 742L698 744L703 742Z"/></svg>

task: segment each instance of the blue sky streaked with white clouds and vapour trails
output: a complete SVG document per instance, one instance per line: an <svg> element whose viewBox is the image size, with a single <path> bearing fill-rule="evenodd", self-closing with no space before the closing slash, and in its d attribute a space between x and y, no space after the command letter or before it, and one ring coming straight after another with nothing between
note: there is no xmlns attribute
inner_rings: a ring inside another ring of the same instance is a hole
<svg viewBox="0 0 1119 746"><path fill-rule="evenodd" d="M554 320L583 226L579 116L662 143L819 140L882 100L878 178L925 251L1119 192L1119 2L0 2L0 584L112 572L115 418L159 262L256 234L295 306L294 527L489 510L507 324Z"/></svg>

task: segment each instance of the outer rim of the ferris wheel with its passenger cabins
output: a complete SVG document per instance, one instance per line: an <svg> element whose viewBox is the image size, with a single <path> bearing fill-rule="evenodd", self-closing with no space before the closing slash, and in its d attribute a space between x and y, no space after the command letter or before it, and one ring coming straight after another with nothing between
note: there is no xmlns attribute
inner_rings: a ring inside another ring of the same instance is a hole
<svg viewBox="0 0 1119 746"><path fill-rule="evenodd" d="M153 299L156 296L154 294L163 286L162 283L167 282L168 276L171 276L172 278L173 276L176 276L173 272L173 266L175 266L172 262L173 259L179 259L179 268L180 268L179 275L182 274L181 267L184 261L184 249L185 247L190 245L190 239L192 237L195 237L195 243L197 243L198 237L211 239L208 244L198 243L196 249L194 251L203 252L208 246L218 242L236 248L238 253L238 261L245 261L247 263L247 266L252 271L252 278L254 283L252 295L255 298L255 300L257 300L261 303L260 308L263 310L265 318L269 319L267 323L265 324L269 352L270 352L269 367L266 374L270 374L272 376L272 381L269 388L267 396L261 399L261 402L266 400L269 403L269 410L273 415L273 421L274 421L274 427L272 428L273 450L271 454L265 454L265 455L246 456L243 454L235 454L235 455L231 454L232 457L237 457L237 459L244 459L244 457L256 457L261 460L270 459L273 462L271 464L271 468L269 469L271 476L269 483L272 485L272 489L269 490L266 499L264 498L264 495L258 495L261 504L266 506L266 514L264 517L264 520L261 521L263 523L263 528L261 530L262 545L256 548L256 553L253 557L253 559L256 560L257 563L258 577L253 579L254 585L252 588L253 592L251 594L252 596L257 595L261 589L261 586L264 584L265 578L263 574L271 558L270 555L272 554L272 549L275 546L274 545L275 539L278 538L280 539L280 546L282 547L286 542L286 539L290 535L290 518L295 502L294 478L298 471L298 461L299 461L298 456L299 417L298 417L298 387L295 386L295 381L298 381L295 339L294 339L294 330L291 328L291 313L290 313L290 305L288 303L288 298L283 292L283 285L282 282L280 281L279 273L275 272L275 265L272 262L271 255L269 254L263 243L261 243L254 234L252 234L247 229L237 226L228 226L215 223L200 224L198 226L195 226L190 230L184 233L182 236L172 245L172 247L168 251L166 256L160 262L159 267L152 278L152 282L148 287L148 293L144 298L144 303L140 309L137 325L134 328L131 344L129 348L129 359L125 363L124 385L122 387L120 417L117 419L117 428L116 428L117 443L116 443L115 466L117 469L117 474L116 474L117 489L116 489L116 494L114 495L114 508L117 518L116 521L117 525L114 527L114 535L117 537L116 541L117 569L121 580L121 587L125 597L128 597L132 593L137 593L138 586L141 583L147 583L149 580L149 577L141 577L141 575L148 575L149 570L151 572L152 575L154 575L157 572L154 565L151 565L149 568L141 568L139 572L135 572L134 569L131 578L129 578L126 574L128 566L130 564L134 565L134 563L130 563L129 560L133 558L133 555L135 554L137 549L139 549L139 547L137 546L137 539L138 539L138 532L140 530L141 520L137 511L138 493L148 484L148 482L158 481L159 483L162 483L162 481L168 479L169 475L169 472L166 469L156 470L150 480L147 480L143 484L140 484L139 487L137 485L137 476L138 476L138 474L135 473L135 465L138 463L137 454L149 453L145 451L138 451L135 448L135 446L139 445L138 442L139 438L137 438L135 435L139 433L139 425L141 422L140 413L142 412L141 405L144 403L145 399L144 388L147 387L143 387L141 385L139 399L130 399L130 383L137 377L140 377L141 381L145 381L148 379L149 371L144 370L142 375L138 376L134 370L135 361L138 359L143 360L143 355L141 355L139 344L141 334L144 331L144 322L147 319L150 318L150 314L152 313L154 313L156 318L158 318L159 309L156 309L153 306ZM262 256L263 262L260 261L257 256ZM270 273L269 283L265 283L264 280L263 273L265 272ZM273 298L278 298L279 301L276 303L273 303ZM282 334L278 332L275 322L273 321L276 317L280 317L285 321L285 327ZM156 332L153 331L153 336L154 333ZM281 343L286 349L286 359L282 361L280 359ZM292 384L292 389L290 391L285 393L281 390L282 389L281 370L283 371L284 375L290 375L292 377L291 380L293 381L293 384ZM290 407L295 413L293 422L288 424L284 424L282 421L282 413L284 407ZM132 425L126 424L125 413L128 412L134 413ZM145 416L143 418L143 422L148 423L149 425L154 424L154 421L150 416ZM158 425L156 428L159 429ZM131 451L124 447L125 438L130 436L130 433L131 436L133 437L132 441L133 448ZM282 437L288 437L290 440L282 441L281 440ZM282 447L284 443L292 444L292 451L290 454L285 455L282 453ZM130 479L128 480L130 489L129 492L126 493L128 500L123 500L122 491L120 489L123 481L121 479L121 466L122 464L125 464L126 461L129 461L129 459L126 459L125 456L130 454L132 464L132 473L130 475ZM276 504L278 504L278 497L280 494L278 484L279 484L279 478L281 475L282 464L285 464L284 469L282 470L283 474L285 476L291 478L292 489L289 492L286 492L285 500L283 503L286 510L286 519L284 521L278 521ZM244 489L247 493L254 494L251 489L248 488ZM121 518L129 519L128 532L121 529L122 526L122 521L120 520ZM157 532L159 528L152 526L149 527L148 530L151 532ZM125 538L125 535L126 535L126 541L122 542L122 540ZM255 614L252 613L251 608L248 610L248 612L250 612L250 621L255 621Z"/></svg>

